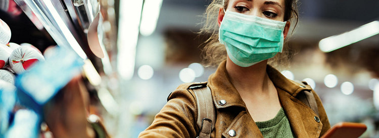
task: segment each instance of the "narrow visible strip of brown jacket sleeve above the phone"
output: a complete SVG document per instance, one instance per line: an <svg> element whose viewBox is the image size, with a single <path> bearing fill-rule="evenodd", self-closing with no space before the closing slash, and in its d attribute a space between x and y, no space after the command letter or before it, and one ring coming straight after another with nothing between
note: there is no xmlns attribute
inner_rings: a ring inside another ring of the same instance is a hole
<svg viewBox="0 0 379 138"><path fill-rule="evenodd" d="M322 122L322 129L320 132L320 137L321 137L327 130L330 129L330 123L329 123L329 120L327 119L327 115L326 115L324 106L322 105L320 97L313 90L312 90L312 93L313 93L314 98L316 99L319 118L320 118L320 121Z"/></svg>

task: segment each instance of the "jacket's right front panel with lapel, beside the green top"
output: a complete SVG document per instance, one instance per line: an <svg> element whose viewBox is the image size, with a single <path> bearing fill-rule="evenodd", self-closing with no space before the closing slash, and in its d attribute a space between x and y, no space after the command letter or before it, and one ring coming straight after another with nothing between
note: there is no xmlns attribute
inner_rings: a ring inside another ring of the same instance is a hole
<svg viewBox="0 0 379 138"><path fill-rule="evenodd" d="M296 98L298 93L310 91L311 88L287 79L270 65L267 65L267 74L276 87L280 103L295 136L319 137L322 123L315 120L317 115L310 107Z"/></svg>

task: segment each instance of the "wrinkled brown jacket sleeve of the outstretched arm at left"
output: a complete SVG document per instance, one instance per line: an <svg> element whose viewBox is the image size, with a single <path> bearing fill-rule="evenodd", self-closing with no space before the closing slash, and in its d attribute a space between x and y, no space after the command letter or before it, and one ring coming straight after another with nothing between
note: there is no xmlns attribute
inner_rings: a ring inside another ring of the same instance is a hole
<svg viewBox="0 0 379 138"><path fill-rule="evenodd" d="M196 137L195 97L186 89L172 92L153 123L138 137Z"/></svg>

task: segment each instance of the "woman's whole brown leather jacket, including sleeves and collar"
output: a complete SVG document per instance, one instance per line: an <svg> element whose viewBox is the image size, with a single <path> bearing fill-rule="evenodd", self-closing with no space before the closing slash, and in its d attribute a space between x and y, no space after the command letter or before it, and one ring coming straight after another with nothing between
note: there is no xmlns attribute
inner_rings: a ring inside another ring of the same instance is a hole
<svg viewBox="0 0 379 138"><path fill-rule="evenodd" d="M267 74L277 89L280 103L296 137L320 137L330 128L321 100L309 85L289 80L269 65ZM208 86L216 109L216 124L211 137L231 137L229 130L235 131L234 137L263 137L240 94L229 81L225 61L209 76ZM195 94L187 91L188 87L188 83L182 84L169 95L167 104L139 137L197 136L199 128L196 124L198 112ZM315 112L296 98L303 90L311 91L316 98L319 122L315 119ZM220 105L219 100L225 100L226 104Z"/></svg>

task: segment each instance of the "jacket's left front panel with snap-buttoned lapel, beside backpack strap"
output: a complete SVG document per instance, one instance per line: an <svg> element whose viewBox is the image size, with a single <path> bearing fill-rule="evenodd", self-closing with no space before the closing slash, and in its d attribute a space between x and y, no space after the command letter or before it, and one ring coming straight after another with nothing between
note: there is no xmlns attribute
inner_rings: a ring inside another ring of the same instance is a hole
<svg viewBox="0 0 379 138"><path fill-rule="evenodd" d="M208 86L211 89L216 107L215 137L231 137L228 132L234 130L235 137L258 137L262 135L250 114L246 112L246 104L231 84L223 61L216 72L209 76ZM260 136L263 137L263 136Z"/></svg>

